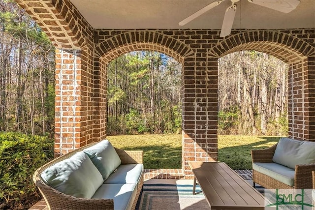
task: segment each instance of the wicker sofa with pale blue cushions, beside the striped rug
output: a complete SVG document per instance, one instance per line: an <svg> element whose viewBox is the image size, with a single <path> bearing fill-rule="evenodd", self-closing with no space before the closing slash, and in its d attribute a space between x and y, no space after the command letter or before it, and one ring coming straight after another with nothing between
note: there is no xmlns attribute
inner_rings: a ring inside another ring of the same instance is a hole
<svg viewBox="0 0 315 210"><path fill-rule="evenodd" d="M143 187L143 151L108 140L74 150L36 170L50 210L134 210Z"/></svg>

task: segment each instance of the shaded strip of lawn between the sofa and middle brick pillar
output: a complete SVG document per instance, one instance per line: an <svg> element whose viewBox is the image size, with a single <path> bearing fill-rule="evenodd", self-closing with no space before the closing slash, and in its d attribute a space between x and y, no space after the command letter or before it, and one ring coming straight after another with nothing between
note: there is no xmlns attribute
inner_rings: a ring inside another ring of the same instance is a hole
<svg viewBox="0 0 315 210"><path fill-rule="evenodd" d="M143 164L146 169L181 169L182 147L138 146L123 147L123 150L143 150Z"/></svg>

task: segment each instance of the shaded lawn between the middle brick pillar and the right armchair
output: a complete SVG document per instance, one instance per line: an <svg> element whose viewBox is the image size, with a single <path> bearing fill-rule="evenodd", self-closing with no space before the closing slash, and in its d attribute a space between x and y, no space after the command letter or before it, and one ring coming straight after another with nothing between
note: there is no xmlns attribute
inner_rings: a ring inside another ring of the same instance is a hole
<svg viewBox="0 0 315 210"><path fill-rule="evenodd" d="M262 141L251 144L224 147L219 149L219 161L225 162L232 169L252 169L251 150L261 150L276 144L281 137L259 137ZM220 146L220 142L218 143Z"/></svg>

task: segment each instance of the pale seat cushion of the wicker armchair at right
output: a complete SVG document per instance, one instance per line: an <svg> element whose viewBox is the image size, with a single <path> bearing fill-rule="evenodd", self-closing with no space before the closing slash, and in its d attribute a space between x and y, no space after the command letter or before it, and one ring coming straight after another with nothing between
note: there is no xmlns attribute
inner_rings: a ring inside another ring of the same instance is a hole
<svg viewBox="0 0 315 210"><path fill-rule="evenodd" d="M287 185L294 186L294 169L278 163L253 163L252 169Z"/></svg>

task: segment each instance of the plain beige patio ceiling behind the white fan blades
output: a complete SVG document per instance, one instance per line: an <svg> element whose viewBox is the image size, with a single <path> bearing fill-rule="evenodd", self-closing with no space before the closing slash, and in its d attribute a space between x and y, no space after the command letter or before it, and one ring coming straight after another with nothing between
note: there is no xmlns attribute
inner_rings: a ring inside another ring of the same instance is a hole
<svg viewBox="0 0 315 210"><path fill-rule="evenodd" d="M221 29L225 0L185 26L178 23L214 0L70 0L94 29ZM275 0L277 1L277 0ZM233 29L315 28L315 0L301 0L290 13L248 0L237 3Z"/></svg>

